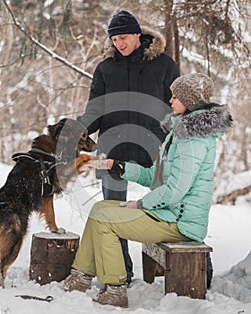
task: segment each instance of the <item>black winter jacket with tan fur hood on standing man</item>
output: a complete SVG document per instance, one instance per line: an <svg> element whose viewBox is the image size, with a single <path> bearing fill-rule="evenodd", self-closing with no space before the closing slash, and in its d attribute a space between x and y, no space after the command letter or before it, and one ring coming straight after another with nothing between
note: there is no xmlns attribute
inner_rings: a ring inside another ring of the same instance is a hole
<svg viewBox="0 0 251 314"><path fill-rule="evenodd" d="M150 167L165 138L160 121L170 111L169 86L179 70L164 53L162 35L149 28L142 31L140 48L127 57L107 39L90 100L78 120L89 134L99 130L99 153Z"/></svg>

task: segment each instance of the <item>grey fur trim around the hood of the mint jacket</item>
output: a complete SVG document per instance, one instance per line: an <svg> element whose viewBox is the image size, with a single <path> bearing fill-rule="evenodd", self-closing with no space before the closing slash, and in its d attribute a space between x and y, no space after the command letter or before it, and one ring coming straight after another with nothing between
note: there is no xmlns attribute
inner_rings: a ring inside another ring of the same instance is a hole
<svg viewBox="0 0 251 314"><path fill-rule="evenodd" d="M167 115L160 123L163 131L179 139L188 139L206 135L225 134L232 125L233 119L228 105L209 103L205 109L193 111L183 116L173 113Z"/></svg>

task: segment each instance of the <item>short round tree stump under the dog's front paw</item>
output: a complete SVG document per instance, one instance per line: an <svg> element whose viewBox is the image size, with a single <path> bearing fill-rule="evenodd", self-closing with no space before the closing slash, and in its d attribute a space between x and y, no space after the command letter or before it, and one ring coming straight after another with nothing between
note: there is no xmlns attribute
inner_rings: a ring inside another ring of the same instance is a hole
<svg viewBox="0 0 251 314"><path fill-rule="evenodd" d="M40 284L64 280L71 272L79 239L79 235L71 232L34 233L30 249L30 280Z"/></svg>

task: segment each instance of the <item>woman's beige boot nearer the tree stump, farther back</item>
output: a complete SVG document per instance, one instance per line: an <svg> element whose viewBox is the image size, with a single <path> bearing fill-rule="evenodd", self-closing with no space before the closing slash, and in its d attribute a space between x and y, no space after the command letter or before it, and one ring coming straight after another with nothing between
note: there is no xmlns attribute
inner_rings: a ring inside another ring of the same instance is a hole
<svg viewBox="0 0 251 314"><path fill-rule="evenodd" d="M82 273L80 270L72 268L71 274L65 279L65 291L72 292L74 290L86 292L91 289L91 275Z"/></svg>

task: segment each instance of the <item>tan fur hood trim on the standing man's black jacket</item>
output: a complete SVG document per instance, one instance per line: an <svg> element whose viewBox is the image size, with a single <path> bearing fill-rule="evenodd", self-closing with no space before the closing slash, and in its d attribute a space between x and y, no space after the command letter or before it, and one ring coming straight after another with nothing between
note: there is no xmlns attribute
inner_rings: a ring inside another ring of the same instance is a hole
<svg viewBox="0 0 251 314"><path fill-rule="evenodd" d="M152 60L155 57L160 56L161 53L164 53L166 47L166 39L163 37L163 35L161 35L159 31L153 31L146 26L141 26L141 29L141 40L144 39L144 37L150 37L152 39L150 46L148 48L143 48L143 57L146 60ZM112 40L108 38L105 41L103 48L104 59L107 59L108 57L114 58L116 56L116 53L117 48L114 47Z"/></svg>

